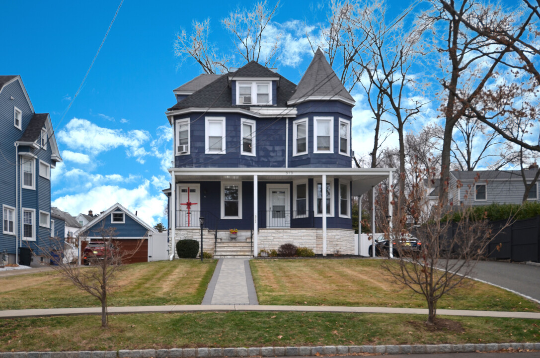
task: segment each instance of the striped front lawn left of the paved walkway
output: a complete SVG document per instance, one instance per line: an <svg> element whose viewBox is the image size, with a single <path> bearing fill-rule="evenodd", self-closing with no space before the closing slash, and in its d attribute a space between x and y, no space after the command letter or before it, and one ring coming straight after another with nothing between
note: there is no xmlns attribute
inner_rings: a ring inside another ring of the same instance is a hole
<svg viewBox="0 0 540 358"><path fill-rule="evenodd" d="M109 306L200 304L216 264L217 260L173 260L126 265L114 281ZM97 299L55 271L0 278L1 310L98 306Z"/></svg>

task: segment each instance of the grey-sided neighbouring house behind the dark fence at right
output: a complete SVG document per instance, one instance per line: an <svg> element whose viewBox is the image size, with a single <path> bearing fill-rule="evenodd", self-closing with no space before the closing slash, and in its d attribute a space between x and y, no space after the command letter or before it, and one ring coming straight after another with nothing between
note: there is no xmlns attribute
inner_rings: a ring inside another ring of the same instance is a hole
<svg viewBox="0 0 540 358"><path fill-rule="evenodd" d="M534 180L538 170L535 164L524 171L527 183ZM477 176L478 180L476 180ZM462 184L461 188L457 188L458 181ZM525 185L521 170L454 170L450 172L448 198L453 204L461 202L469 205L520 204L524 193ZM529 191L527 200L539 201L538 183L535 183Z"/></svg>

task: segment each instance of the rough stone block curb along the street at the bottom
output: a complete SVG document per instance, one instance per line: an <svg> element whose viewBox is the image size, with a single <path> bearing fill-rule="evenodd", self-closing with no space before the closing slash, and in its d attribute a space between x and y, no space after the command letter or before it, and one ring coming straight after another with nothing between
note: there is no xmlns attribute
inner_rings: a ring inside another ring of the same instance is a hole
<svg viewBox="0 0 540 358"><path fill-rule="evenodd" d="M251 348L173 348L81 352L0 352L0 358L212 358L273 357L348 354L410 354L495 352L498 350L540 350L540 343L403 344L401 346L323 346Z"/></svg>

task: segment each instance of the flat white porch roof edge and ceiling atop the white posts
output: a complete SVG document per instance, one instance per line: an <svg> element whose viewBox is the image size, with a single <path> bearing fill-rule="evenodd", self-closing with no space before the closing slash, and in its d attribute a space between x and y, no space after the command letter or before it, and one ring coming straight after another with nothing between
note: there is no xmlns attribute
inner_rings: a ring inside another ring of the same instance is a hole
<svg viewBox="0 0 540 358"><path fill-rule="evenodd" d="M351 195L360 196L379 184L395 168L170 168L176 181L292 181L307 178L330 178L353 183Z"/></svg>

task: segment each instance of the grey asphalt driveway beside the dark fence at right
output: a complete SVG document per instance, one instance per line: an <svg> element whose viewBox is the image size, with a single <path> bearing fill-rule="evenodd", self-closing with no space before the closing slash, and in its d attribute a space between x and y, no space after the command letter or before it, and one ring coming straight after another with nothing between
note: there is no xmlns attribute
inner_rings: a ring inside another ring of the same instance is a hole
<svg viewBox="0 0 540 358"><path fill-rule="evenodd" d="M470 275L540 302L540 266L500 261L480 261Z"/></svg>

